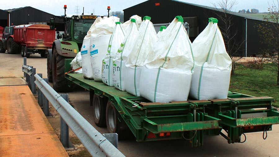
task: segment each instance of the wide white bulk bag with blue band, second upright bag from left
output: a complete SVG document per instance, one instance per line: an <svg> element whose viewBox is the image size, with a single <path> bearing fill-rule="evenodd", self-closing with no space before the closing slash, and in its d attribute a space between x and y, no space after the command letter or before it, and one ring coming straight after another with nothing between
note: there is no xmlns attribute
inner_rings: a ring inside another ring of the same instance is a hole
<svg viewBox="0 0 279 157"><path fill-rule="evenodd" d="M119 22L116 16L110 16L95 25L90 38L90 58L93 78L102 82L102 59L108 52L108 43L113 33L115 23Z"/></svg>

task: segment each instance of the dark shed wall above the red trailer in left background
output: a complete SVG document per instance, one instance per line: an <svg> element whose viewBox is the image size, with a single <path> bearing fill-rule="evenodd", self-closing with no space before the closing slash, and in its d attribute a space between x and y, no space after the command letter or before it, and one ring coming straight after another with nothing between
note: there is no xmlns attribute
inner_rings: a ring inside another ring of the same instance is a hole
<svg viewBox="0 0 279 157"><path fill-rule="evenodd" d="M13 25L28 24L29 22L47 22L53 15L32 7L24 7L12 11L10 14L10 23Z"/></svg>

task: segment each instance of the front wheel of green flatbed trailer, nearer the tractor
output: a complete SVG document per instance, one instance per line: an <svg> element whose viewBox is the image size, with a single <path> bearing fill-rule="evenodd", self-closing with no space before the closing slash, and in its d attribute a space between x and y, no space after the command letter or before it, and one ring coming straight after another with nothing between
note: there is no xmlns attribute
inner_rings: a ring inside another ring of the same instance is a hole
<svg viewBox="0 0 279 157"><path fill-rule="evenodd" d="M106 125L106 104L107 99L94 94L93 96L93 119L97 126Z"/></svg>

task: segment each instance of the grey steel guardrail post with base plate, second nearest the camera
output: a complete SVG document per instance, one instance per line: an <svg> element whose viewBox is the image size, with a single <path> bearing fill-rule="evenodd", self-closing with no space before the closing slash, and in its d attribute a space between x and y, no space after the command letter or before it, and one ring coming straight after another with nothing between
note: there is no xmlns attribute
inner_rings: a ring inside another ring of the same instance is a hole
<svg viewBox="0 0 279 157"><path fill-rule="evenodd" d="M60 94L67 102L69 102L69 94ZM75 146L69 141L69 127L60 116L60 141L65 149L74 149Z"/></svg>

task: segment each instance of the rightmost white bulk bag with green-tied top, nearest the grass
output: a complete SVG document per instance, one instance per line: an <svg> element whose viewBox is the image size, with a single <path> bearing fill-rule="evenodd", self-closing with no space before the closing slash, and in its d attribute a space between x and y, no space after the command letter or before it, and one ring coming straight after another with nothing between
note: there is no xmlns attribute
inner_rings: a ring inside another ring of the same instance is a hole
<svg viewBox="0 0 279 157"><path fill-rule="evenodd" d="M227 54L218 20L209 24L194 40L195 68L190 97L197 100L227 98L232 60Z"/></svg>

